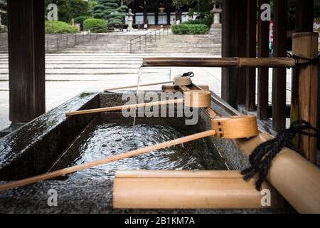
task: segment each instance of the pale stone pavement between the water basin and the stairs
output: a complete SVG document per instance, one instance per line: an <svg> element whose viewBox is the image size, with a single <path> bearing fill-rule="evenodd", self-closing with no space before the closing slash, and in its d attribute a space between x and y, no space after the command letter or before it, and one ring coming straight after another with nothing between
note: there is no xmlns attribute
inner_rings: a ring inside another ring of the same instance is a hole
<svg viewBox="0 0 320 228"><path fill-rule="evenodd" d="M46 110L51 110L85 90L130 86L144 56L184 56L183 54L130 53L53 53L46 55ZM208 56L208 53L189 56ZM178 73L194 71L195 83L209 84L220 94L220 70L217 68L144 68L141 83L171 81ZM161 90L151 86L145 90ZM0 128L9 122L9 76L7 54L0 54Z"/></svg>

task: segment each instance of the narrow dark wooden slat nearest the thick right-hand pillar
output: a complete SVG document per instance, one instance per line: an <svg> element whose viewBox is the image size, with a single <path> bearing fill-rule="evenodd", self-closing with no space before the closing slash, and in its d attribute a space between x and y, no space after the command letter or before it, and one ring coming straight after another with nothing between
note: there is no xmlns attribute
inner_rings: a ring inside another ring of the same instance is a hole
<svg viewBox="0 0 320 228"><path fill-rule="evenodd" d="M257 57L257 0L247 0L247 57ZM255 68L247 68L245 78L245 108L255 110Z"/></svg>

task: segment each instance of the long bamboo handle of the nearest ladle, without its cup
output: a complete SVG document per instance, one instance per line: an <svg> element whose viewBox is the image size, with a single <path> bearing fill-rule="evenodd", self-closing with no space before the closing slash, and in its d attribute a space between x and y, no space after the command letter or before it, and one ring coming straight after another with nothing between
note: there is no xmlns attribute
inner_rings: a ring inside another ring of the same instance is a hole
<svg viewBox="0 0 320 228"><path fill-rule="evenodd" d="M42 181L42 180L49 180L49 179L54 178L54 177L60 177L62 175L68 175L68 174L70 174L72 172L85 170L85 169L88 169L90 167L96 167L96 166L99 166L99 165L104 165L104 164L107 164L109 162L122 160L122 159L127 158L127 157L134 157L134 156L137 156L137 155L142 155L142 154L144 154L146 152L159 150L159 149L162 149L162 148L165 148L165 147L171 147L173 145L179 145L179 144L185 143L185 142L191 142L193 140L198 140L198 139L206 138L206 137L213 136L213 135L215 135L215 130L208 130L208 131L203 132L203 133L189 135L189 136L186 136L186 137L183 137L183 138L178 138L176 140L171 140L169 142L162 142L162 143L159 143L157 145L152 145L150 147L141 148L139 150L132 150L130 152L124 152L121 155L115 155L115 156L112 156L112 157L106 157L105 159L102 159L102 160L95 160L93 162L88 162L88 163L85 163L85 164L82 164L82 165L75 165L73 167L68 167L68 168L65 168L65 169L62 169L62 170L56 170L56 171L53 171L53 172L48 172L48 173L45 173L43 175L38 175L38 176L35 176L35 177L29 177L29 178L26 178L26 179L23 179L23 180L9 182L8 184L0 185L0 192L4 191L4 190L10 190L10 189L13 189L13 188L16 188L16 187L22 187L24 185L29 185L29 184L32 184L32 183L35 183L35 182L39 182L39 181Z"/></svg>

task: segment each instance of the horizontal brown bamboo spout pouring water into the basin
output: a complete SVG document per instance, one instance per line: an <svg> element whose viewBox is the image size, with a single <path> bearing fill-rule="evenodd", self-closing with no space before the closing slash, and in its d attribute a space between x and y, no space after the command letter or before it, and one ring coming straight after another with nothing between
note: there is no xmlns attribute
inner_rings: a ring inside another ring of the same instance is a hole
<svg viewBox="0 0 320 228"><path fill-rule="evenodd" d="M304 61L301 61L304 62ZM188 67L238 67L280 68L294 67L293 58L144 58L142 66L188 66Z"/></svg>

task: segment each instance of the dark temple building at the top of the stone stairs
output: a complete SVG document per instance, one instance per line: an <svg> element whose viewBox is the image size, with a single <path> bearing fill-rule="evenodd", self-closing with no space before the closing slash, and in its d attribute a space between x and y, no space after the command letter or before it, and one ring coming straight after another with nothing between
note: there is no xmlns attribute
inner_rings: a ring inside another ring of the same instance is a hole
<svg viewBox="0 0 320 228"><path fill-rule="evenodd" d="M173 6L171 0L124 0L134 14L134 25L160 26L176 24L176 21L188 21L190 6ZM192 19L196 19L193 14ZM126 19L127 23L127 19Z"/></svg>

